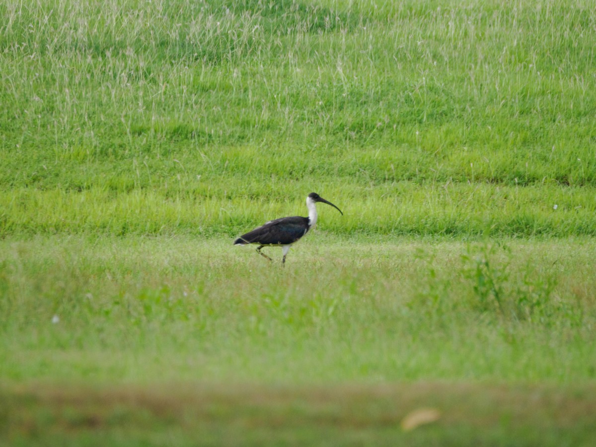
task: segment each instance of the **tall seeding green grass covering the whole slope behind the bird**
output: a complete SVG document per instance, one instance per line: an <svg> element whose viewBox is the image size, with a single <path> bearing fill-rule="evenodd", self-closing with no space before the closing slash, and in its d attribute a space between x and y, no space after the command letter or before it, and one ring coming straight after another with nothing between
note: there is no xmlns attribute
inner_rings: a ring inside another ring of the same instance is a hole
<svg viewBox="0 0 596 447"><path fill-rule="evenodd" d="M135 197L147 210L176 197L178 216L198 202L198 225L231 234L262 220L249 200L281 208L312 190L361 204L334 232L594 234L586 2L9 0L0 17L3 234L190 226L161 224L169 205L144 223L95 215ZM445 184L470 207L430 206ZM477 188L522 199L470 224ZM400 219L397 192L436 224ZM237 226L204 209L225 214L229 197ZM573 211L545 217L560 197ZM20 208L64 200L80 217Z"/></svg>

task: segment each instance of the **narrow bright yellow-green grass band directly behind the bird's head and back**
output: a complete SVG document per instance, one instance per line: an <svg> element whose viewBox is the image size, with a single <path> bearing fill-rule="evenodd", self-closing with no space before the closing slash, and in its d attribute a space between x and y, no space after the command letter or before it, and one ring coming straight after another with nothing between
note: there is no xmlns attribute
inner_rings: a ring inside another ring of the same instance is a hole
<svg viewBox="0 0 596 447"><path fill-rule="evenodd" d="M305 214L304 197L293 195L310 191L312 184L283 184L275 179L245 184L243 179L230 178L225 185L200 181L185 190L164 184L119 194L101 187L80 192L18 188L0 192L4 203L0 235L58 232L231 238L276 216ZM319 206L319 228L337 235L596 234L596 202L589 188L452 183L319 187L316 190L344 212L340 216L330 207ZM235 194L240 190L244 194Z"/></svg>

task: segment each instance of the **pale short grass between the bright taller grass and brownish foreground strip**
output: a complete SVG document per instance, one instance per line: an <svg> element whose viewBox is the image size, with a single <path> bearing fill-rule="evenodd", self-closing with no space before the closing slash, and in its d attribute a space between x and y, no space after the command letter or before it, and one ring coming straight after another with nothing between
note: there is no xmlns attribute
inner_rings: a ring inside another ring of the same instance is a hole
<svg viewBox="0 0 596 447"><path fill-rule="evenodd" d="M594 241L2 240L7 380L590 383Z"/></svg>

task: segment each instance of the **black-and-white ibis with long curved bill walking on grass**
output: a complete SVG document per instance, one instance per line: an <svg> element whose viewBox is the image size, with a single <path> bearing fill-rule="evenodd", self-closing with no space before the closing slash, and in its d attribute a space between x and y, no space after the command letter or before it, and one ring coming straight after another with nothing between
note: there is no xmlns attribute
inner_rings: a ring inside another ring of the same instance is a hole
<svg viewBox="0 0 596 447"><path fill-rule="evenodd" d="M327 203L338 210L342 216L342 210L330 201L325 200L316 193L311 193L306 197L306 207L308 208L308 218L301 216L291 216L287 218L275 219L265 222L265 225L253 229L246 234L241 235L234 241L234 245L259 244L257 253L266 257L270 261L271 257L261 252L265 246L281 246L284 255L281 263L285 265L285 256L290 251L291 245L308 233L316 224L316 206L317 202Z"/></svg>

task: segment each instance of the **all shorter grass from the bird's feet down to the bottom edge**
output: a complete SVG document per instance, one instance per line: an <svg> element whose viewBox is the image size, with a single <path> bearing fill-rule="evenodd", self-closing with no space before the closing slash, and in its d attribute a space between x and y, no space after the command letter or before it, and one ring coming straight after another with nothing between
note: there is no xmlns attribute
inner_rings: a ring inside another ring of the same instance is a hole
<svg viewBox="0 0 596 447"><path fill-rule="evenodd" d="M589 445L594 434L591 239L315 232L285 268L279 249L271 264L217 238L0 248L7 445ZM439 421L401 429L429 407Z"/></svg>

